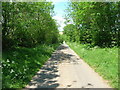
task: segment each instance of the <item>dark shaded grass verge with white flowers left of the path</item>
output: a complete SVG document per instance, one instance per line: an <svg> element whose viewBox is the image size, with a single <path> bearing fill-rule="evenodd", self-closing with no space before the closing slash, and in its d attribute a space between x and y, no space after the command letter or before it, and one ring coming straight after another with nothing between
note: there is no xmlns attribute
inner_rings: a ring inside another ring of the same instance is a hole
<svg viewBox="0 0 120 90"><path fill-rule="evenodd" d="M2 87L25 87L58 45L40 45L35 48L16 47L3 51Z"/></svg>

